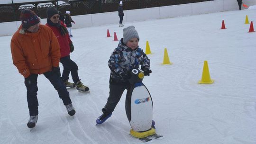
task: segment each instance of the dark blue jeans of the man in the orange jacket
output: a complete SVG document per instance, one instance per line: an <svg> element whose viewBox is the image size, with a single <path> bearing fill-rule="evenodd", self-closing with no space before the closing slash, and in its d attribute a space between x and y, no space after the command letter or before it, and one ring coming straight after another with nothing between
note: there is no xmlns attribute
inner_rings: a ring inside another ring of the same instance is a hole
<svg viewBox="0 0 256 144"><path fill-rule="evenodd" d="M71 99L69 98L69 92L64 86L61 78L53 72L45 72L44 75L52 83L55 90L58 91L60 99L63 100L63 104L68 105L72 103ZM37 77L38 74L31 74L29 77L25 78L25 85L27 88L27 104L30 116L38 115Z"/></svg>

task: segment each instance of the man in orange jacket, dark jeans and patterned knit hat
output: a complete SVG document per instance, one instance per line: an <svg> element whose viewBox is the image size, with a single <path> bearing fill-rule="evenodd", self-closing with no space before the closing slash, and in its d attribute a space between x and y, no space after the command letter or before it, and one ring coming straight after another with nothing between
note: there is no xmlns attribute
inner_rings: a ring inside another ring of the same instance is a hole
<svg viewBox="0 0 256 144"><path fill-rule="evenodd" d="M70 116L75 114L69 92L60 77L60 46L53 31L40 25L40 18L29 9L24 9L20 15L21 26L11 39L11 54L13 64L25 78L27 87L27 104L29 120L27 127L37 124L37 77L44 74L58 91L60 99Z"/></svg>

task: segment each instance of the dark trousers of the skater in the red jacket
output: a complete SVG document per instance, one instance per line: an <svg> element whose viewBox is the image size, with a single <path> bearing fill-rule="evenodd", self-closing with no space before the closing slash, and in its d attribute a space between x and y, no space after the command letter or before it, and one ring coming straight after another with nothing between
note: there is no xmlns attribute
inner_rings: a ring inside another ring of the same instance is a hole
<svg viewBox="0 0 256 144"><path fill-rule="evenodd" d="M60 62L63 65L63 72L62 72L62 80L65 82L69 79L69 73L71 72L72 79L74 83L80 81L78 77L78 66L75 62L70 59L70 56L65 56L60 59Z"/></svg>

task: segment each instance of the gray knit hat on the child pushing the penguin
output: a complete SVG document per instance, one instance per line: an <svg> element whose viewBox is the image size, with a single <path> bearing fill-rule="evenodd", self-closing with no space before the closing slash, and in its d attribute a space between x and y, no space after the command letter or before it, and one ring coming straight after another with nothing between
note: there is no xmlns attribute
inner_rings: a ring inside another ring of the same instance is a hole
<svg viewBox="0 0 256 144"><path fill-rule="evenodd" d="M139 40L139 36L134 26L129 26L123 29L124 39L123 42L126 44L130 39L136 37Z"/></svg>

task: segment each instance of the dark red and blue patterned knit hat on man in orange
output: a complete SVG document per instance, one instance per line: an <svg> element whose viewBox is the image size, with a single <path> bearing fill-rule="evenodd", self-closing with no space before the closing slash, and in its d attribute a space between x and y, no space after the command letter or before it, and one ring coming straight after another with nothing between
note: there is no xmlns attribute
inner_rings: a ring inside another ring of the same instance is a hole
<svg viewBox="0 0 256 144"><path fill-rule="evenodd" d="M40 18L37 16L37 14L30 9L24 9L21 11L20 20L22 30L26 30L27 28L34 26L40 22Z"/></svg>

